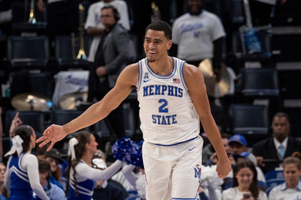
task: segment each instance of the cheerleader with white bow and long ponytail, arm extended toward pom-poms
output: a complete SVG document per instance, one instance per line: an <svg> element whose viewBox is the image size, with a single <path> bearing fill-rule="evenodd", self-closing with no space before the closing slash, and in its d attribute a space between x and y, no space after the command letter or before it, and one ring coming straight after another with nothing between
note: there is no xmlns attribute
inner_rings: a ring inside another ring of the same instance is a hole
<svg viewBox="0 0 301 200"><path fill-rule="evenodd" d="M122 166L122 161L116 160L105 170L92 167L93 155L97 152L98 143L95 137L80 131L69 140L68 167L66 170L68 200L91 199L94 181L108 180Z"/></svg>

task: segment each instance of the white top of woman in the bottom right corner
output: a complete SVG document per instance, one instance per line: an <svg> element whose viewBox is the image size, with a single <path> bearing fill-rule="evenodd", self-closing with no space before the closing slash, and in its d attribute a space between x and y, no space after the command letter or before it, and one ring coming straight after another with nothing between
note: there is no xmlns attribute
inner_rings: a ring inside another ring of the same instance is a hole
<svg viewBox="0 0 301 200"><path fill-rule="evenodd" d="M286 183L274 187L269 193L269 200L299 200L301 199L301 181L295 188L287 188Z"/></svg>

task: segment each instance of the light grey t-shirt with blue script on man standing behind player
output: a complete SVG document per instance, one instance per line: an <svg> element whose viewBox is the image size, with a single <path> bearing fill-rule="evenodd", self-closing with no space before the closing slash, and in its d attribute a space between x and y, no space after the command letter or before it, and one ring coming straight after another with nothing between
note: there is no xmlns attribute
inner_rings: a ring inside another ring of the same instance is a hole
<svg viewBox="0 0 301 200"><path fill-rule="evenodd" d="M185 13L172 26L172 42L178 45L177 57L182 60L213 58L213 41L225 35L219 18L206 10L199 15Z"/></svg>

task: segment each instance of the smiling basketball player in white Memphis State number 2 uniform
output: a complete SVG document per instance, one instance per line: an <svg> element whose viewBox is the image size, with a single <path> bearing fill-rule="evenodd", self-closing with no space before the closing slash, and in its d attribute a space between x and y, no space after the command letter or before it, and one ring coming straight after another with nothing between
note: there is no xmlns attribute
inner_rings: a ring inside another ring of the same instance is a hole
<svg viewBox="0 0 301 200"><path fill-rule="evenodd" d="M67 134L106 117L136 88L140 106L142 147L146 174L146 199L198 199L203 140L202 122L219 162L216 171L224 178L230 161L210 112L201 71L185 61L170 57L172 29L162 21L151 23L145 32L146 58L127 66L115 87L98 103L64 126L51 125L40 146L48 150Z"/></svg>

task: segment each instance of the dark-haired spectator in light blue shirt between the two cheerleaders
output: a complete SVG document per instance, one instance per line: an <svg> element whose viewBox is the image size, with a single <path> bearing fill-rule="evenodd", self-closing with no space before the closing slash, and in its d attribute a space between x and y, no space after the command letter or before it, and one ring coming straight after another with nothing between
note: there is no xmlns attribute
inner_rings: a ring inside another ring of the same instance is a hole
<svg viewBox="0 0 301 200"><path fill-rule="evenodd" d="M38 159L38 162L40 183L43 186L47 196L51 200L66 199L64 190L50 182L51 168L49 162L45 159L40 158ZM38 197L37 200L40 200L40 198Z"/></svg>

